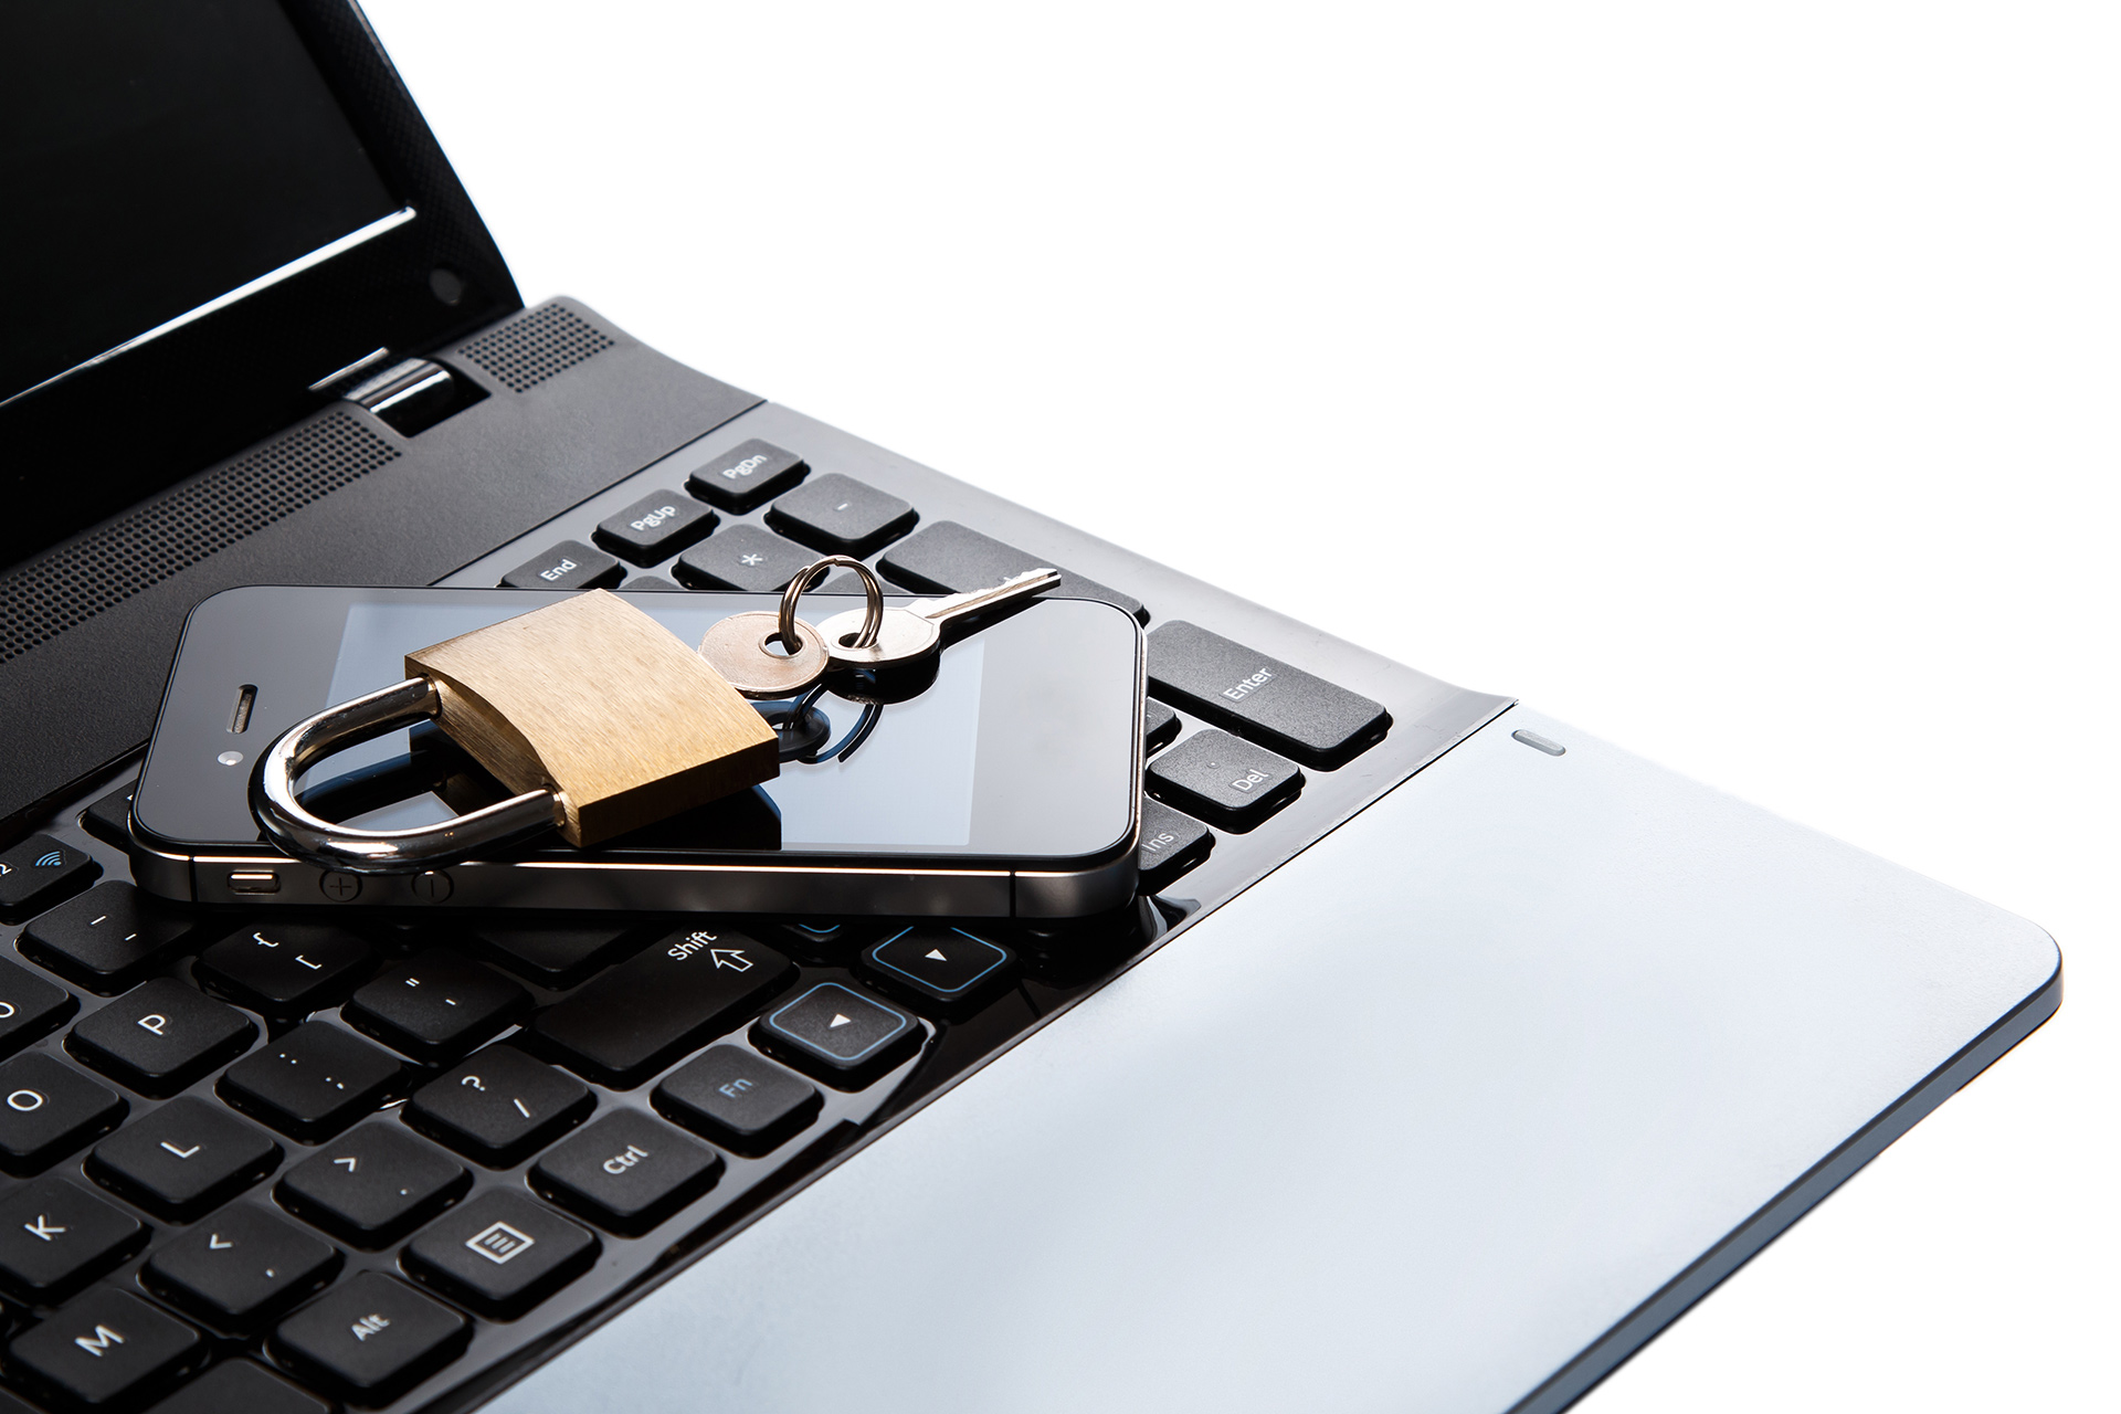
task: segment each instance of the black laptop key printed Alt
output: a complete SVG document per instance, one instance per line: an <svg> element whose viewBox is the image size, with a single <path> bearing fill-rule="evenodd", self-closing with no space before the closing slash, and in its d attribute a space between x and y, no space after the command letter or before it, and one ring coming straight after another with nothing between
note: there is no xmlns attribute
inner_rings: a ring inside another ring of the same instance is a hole
<svg viewBox="0 0 2121 1414"><path fill-rule="evenodd" d="M274 1331L274 1355L358 1403L388 1403L456 1359L471 1321L382 1272L358 1272Z"/></svg>

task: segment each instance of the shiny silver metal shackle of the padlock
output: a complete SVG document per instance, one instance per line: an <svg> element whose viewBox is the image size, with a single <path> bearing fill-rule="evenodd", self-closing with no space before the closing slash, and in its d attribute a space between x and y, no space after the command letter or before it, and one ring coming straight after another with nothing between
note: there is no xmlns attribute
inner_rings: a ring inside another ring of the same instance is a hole
<svg viewBox="0 0 2121 1414"><path fill-rule="evenodd" d="M346 873L418 873L484 854L566 818L558 791L524 791L496 806L418 829L352 829L303 810L295 780L335 750L373 740L441 710L431 678L390 687L329 706L295 723L250 774L250 814L265 837L295 859Z"/></svg>

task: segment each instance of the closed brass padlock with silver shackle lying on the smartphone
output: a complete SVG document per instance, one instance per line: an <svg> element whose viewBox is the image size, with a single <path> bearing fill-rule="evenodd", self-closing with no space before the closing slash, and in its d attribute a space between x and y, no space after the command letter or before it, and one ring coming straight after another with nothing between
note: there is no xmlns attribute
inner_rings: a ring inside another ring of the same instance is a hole
<svg viewBox="0 0 2121 1414"><path fill-rule="evenodd" d="M312 761L433 717L513 799L411 831L320 820L295 799ZM405 683L318 712L259 761L267 837L331 869L397 873L556 827L598 844L781 774L759 712L662 623L592 589L405 655Z"/></svg>

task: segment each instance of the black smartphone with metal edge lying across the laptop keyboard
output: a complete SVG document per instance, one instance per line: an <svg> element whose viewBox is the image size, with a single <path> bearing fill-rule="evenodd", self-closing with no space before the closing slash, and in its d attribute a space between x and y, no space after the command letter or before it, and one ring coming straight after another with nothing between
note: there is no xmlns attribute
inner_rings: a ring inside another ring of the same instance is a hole
<svg viewBox="0 0 2121 1414"><path fill-rule="evenodd" d="M191 903L312 909L1082 918L1133 897L1145 649L1133 615L1103 600L1044 598L974 625L912 683L831 674L808 708L757 704L793 727L776 780L590 850L549 835L448 869L352 876L263 842L248 782L280 733L399 683L407 651L551 598L252 585L204 600L134 797L138 882ZM781 606L624 598L694 644L725 615ZM804 619L859 602L806 596ZM308 808L363 829L426 825L498 791L431 725L327 757L297 784Z"/></svg>

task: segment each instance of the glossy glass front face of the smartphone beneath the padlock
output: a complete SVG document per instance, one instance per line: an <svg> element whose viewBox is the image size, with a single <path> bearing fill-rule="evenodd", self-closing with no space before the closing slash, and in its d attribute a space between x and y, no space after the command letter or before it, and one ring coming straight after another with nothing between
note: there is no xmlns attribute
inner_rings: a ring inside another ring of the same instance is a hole
<svg viewBox="0 0 2121 1414"><path fill-rule="evenodd" d="M255 850L250 772L282 731L399 683L407 651L551 598L518 589L246 587L206 600L185 628L148 746L134 801L142 831L187 852ZM621 598L687 644L732 613L776 611L781 602L740 594ZM859 604L859 596L806 598L804 617L814 623ZM592 854L1022 861L1099 856L1126 839L1141 770L1141 630L1124 611L1097 600L1029 604L944 647L933 681L916 687L904 691L901 683L889 702L865 704L859 697L876 693L859 678L829 676L825 691L806 697L821 719L806 755L853 740L848 750L783 759L778 778ZM248 704L242 731L231 717L238 700ZM498 786L433 725L420 725L316 761L299 789L327 818L405 829L484 803L479 782L492 799Z"/></svg>

